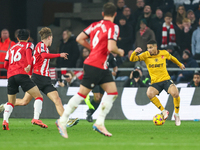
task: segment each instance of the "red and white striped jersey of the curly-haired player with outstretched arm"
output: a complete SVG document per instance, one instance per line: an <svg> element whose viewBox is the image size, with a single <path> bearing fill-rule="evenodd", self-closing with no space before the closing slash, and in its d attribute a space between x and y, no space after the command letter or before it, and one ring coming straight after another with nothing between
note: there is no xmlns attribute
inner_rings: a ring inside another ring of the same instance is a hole
<svg viewBox="0 0 200 150"><path fill-rule="evenodd" d="M49 61L50 59L44 59L41 54L49 53L48 47L41 41L34 50L33 54L33 73L49 77Z"/></svg>

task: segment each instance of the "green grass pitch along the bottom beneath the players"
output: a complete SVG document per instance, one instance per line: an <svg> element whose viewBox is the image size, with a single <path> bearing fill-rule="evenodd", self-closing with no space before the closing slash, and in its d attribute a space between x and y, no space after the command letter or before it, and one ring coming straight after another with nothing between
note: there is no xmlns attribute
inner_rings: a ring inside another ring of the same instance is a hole
<svg viewBox="0 0 200 150"><path fill-rule="evenodd" d="M55 119L42 119L49 128L32 125L31 119L10 119L10 130L0 130L0 148L4 150L199 150L200 122L174 121L155 126L152 121L106 120L113 136L92 130L92 123L80 120L68 128L68 139L58 133Z"/></svg>

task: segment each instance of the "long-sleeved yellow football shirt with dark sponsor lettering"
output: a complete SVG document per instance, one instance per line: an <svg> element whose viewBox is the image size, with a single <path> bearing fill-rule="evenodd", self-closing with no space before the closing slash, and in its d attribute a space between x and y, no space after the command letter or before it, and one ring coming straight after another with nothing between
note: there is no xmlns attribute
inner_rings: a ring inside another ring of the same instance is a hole
<svg viewBox="0 0 200 150"><path fill-rule="evenodd" d="M131 54L130 61L145 62L149 71L149 75L151 77L151 84L170 80L170 76L166 67L166 59L171 60L179 67L182 65L174 56L169 54L166 50L159 50L159 53L157 55L150 55L148 51L143 52L137 56L136 54L137 53L135 51Z"/></svg>

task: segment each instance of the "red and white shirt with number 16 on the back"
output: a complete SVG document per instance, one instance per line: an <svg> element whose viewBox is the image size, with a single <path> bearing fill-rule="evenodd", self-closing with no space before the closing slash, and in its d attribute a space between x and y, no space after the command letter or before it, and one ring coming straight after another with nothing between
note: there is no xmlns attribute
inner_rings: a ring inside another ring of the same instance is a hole
<svg viewBox="0 0 200 150"><path fill-rule="evenodd" d="M7 51L5 57L5 60L9 61L7 78L17 74L27 74L24 68L28 65L26 59L26 50L28 48L33 50L34 45L30 42L18 42Z"/></svg>

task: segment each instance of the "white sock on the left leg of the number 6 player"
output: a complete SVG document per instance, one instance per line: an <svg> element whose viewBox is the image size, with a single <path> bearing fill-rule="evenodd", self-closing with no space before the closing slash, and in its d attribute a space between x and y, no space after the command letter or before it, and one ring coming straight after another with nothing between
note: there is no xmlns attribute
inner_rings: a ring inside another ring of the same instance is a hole
<svg viewBox="0 0 200 150"><path fill-rule="evenodd" d="M69 115L74 112L74 110L78 107L78 105L84 100L85 98L80 96L79 94L74 95L68 102L63 115L60 117L60 123L63 126L67 125L69 120Z"/></svg>

